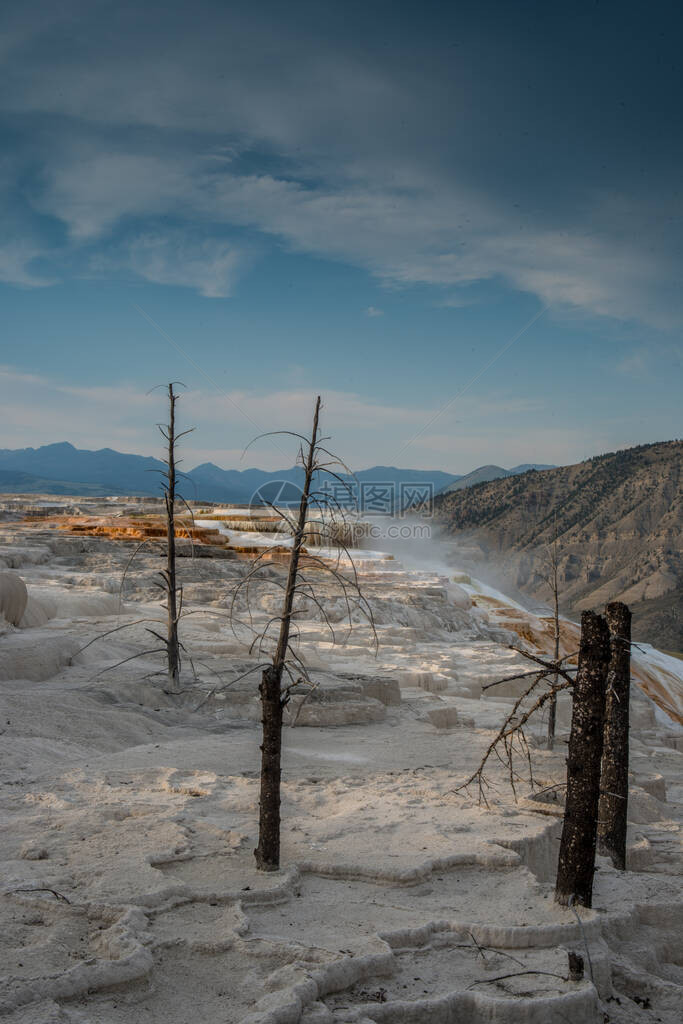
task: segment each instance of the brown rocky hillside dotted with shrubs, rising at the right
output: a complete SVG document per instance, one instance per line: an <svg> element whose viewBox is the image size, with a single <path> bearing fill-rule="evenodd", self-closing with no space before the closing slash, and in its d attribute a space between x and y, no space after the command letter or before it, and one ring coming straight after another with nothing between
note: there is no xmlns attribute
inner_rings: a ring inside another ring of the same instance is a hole
<svg viewBox="0 0 683 1024"><path fill-rule="evenodd" d="M501 586L540 601L557 534L565 613L626 601L634 636L683 650L683 442L663 441L439 495L434 512Z"/></svg>

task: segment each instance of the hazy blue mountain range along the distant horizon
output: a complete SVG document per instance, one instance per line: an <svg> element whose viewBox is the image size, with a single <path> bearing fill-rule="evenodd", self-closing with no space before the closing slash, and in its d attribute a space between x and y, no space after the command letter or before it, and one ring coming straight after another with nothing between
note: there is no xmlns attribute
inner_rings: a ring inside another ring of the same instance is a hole
<svg viewBox="0 0 683 1024"><path fill-rule="evenodd" d="M373 466L360 470L355 479L371 493L373 486L389 492L401 504L401 495L411 485L437 494L467 480L490 479L495 475L522 472L529 467L513 470L485 466L467 477L440 470L397 469L394 466ZM49 495L159 495L160 474L164 463L159 459L127 455L114 449L90 452L74 447L69 441L45 444L42 447L0 450L0 493ZM350 478L347 478L350 479ZM184 496L188 500L248 503L255 494L268 500L296 500L303 480L300 466L267 472L262 469L221 469L211 462L202 463L184 476ZM464 486L469 484L464 483ZM355 486L355 484L354 484ZM265 489L264 489L265 488ZM382 509L378 508L378 511ZM388 510L388 509L387 509Z"/></svg>

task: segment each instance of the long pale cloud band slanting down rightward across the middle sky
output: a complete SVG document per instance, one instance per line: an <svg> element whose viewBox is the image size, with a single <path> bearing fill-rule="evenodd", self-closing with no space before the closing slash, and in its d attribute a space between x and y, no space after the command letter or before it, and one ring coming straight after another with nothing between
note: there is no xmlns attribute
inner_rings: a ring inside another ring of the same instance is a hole
<svg viewBox="0 0 683 1024"><path fill-rule="evenodd" d="M209 297L230 293L238 259L226 256L227 240L214 238L198 251L193 240L201 224L211 225L214 236L217 225L226 231L255 229L294 251L364 266L391 285L453 289L500 278L550 305L639 317L664 328L683 317L675 297L666 304L655 301L673 267L640 240L626 242L595 229L589 236L583 226L559 232L533 222L520 232L509 211L493 216L490 200L457 180L438 189L416 181L407 191L356 174L353 181L322 181L311 189L291 178L216 168L210 157L136 154L69 155L63 163L53 160L51 175L36 206L62 220L76 245L105 241L116 224L131 218L183 211L186 223L173 230L172 240L139 232L130 239L131 267L160 284L183 284L173 268L173 250L185 249L184 283ZM470 214L467 224L460 223L463 207ZM599 224L599 209L592 216ZM203 267L198 274L197 263ZM444 301L454 304L454 293Z"/></svg>

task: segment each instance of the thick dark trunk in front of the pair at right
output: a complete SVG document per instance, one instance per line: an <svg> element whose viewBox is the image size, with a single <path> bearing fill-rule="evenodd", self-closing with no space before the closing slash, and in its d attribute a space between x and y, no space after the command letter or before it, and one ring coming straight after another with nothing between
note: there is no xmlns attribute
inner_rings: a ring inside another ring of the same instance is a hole
<svg viewBox="0 0 683 1024"><path fill-rule="evenodd" d="M579 671L573 687L564 824L555 886L555 899L564 906L571 896L583 906L591 906L593 899L608 665L607 624L602 615L584 611Z"/></svg>

